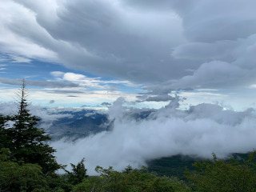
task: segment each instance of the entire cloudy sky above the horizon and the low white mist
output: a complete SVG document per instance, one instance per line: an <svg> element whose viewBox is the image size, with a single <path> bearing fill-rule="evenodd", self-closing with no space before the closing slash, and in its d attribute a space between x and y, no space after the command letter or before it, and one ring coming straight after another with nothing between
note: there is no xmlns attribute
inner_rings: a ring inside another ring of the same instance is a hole
<svg viewBox="0 0 256 192"><path fill-rule="evenodd" d="M254 107L255 7L254 0L2 0L0 101L12 100L26 78L42 106L97 106L120 96L158 106L181 90L188 105Z"/></svg>

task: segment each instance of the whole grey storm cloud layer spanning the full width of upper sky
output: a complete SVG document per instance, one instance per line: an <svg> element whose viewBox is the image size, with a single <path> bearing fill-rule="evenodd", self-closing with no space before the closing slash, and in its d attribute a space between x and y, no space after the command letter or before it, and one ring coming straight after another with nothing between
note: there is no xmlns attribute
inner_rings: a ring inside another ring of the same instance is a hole
<svg viewBox="0 0 256 192"><path fill-rule="evenodd" d="M54 62L66 67L160 92L256 81L254 0L50 2L6 2L26 16L3 19L2 28L54 53ZM21 54L8 42L2 47Z"/></svg>

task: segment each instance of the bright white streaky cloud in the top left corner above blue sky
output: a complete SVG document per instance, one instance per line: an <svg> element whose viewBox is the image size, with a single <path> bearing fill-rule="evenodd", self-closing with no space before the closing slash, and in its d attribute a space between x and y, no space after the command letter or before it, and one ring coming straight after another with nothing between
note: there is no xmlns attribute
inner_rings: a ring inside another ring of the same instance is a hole
<svg viewBox="0 0 256 192"><path fill-rule="evenodd" d="M11 54L14 58L40 58L57 60L54 51L34 41L30 35L49 38L49 34L34 19L34 13L14 1L2 1L0 4L1 52ZM13 10L17 14L10 12ZM9 18L9 19L6 19ZM33 33L33 34L32 34ZM46 40L46 39L45 39Z"/></svg>

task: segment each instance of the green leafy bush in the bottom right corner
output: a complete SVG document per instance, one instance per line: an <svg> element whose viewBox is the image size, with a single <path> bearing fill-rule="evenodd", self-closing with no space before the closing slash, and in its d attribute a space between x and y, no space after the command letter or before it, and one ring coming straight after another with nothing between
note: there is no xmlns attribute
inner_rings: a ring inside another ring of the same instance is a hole
<svg viewBox="0 0 256 192"><path fill-rule="evenodd" d="M230 159L218 159L195 162L196 170L187 171L187 178L198 191L256 191L255 152L249 154L249 159L239 163Z"/></svg>

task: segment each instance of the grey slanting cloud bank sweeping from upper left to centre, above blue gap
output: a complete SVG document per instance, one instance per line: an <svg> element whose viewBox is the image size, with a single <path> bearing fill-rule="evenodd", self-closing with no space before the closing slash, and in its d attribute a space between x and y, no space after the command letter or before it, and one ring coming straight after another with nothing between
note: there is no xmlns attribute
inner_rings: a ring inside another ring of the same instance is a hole
<svg viewBox="0 0 256 192"><path fill-rule="evenodd" d="M3 4L2 10L12 20L8 23L2 19L2 28L6 30L2 37L27 39L26 42L15 41L21 45L2 40L6 50L27 58L50 59L98 75L114 75L136 82L145 78L159 79L155 75L158 68L155 64L163 66L162 71L166 70L170 48L184 41L181 20L173 12L131 10L117 0L54 1L53 6L32 1ZM11 8L22 17L10 14ZM26 23L26 27L20 23ZM21 50L22 46L27 49ZM32 50L33 46L38 48ZM149 66L138 67L143 63Z"/></svg>

